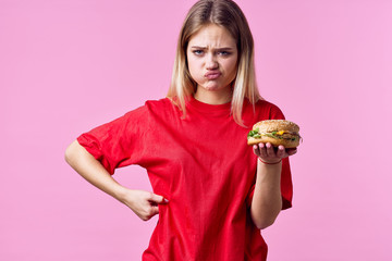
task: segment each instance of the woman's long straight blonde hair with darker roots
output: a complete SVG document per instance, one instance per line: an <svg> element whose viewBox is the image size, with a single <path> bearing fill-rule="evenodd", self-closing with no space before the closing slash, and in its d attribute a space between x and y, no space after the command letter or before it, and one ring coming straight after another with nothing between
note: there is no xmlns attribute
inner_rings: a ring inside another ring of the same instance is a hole
<svg viewBox="0 0 392 261"><path fill-rule="evenodd" d="M180 32L168 98L179 105L183 115L186 114L186 99L195 94L197 86L187 67L187 45L194 34L209 24L223 26L237 41L238 65L232 84L231 112L234 121L244 126L242 121L244 99L247 98L252 104L255 104L261 97L256 84L253 36L244 13L231 0L200 0L191 8Z"/></svg>

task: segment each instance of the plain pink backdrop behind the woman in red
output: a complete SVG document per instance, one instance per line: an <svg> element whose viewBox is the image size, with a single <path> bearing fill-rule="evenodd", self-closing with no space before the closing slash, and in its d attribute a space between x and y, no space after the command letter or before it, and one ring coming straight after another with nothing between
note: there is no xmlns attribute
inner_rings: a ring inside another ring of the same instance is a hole
<svg viewBox="0 0 392 261"><path fill-rule="evenodd" d="M166 96L194 1L0 0L0 260L139 260L157 222L64 162L81 133ZM302 127L269 260L392 260L392 1L237 1L262 96ZM125 186L150 189L138 166Z"/></svg>

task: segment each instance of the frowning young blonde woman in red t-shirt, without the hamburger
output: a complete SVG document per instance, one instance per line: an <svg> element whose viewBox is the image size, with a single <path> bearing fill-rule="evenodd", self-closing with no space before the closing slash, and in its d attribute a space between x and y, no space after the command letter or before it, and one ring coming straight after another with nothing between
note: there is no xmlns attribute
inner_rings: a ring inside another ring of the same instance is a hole
<svg viewBox="0 0 392 261"><path fill-rule="evenodd" d="M260 229L291 207L296 152L247 146L253 124L268 119L284 116L258 94L244 14L200 0L181 29L168 97L81 135L65 158L142 220L159 213L143 260L266 260ZM147 170L154 192L112 178L130 164Z"/></svg>

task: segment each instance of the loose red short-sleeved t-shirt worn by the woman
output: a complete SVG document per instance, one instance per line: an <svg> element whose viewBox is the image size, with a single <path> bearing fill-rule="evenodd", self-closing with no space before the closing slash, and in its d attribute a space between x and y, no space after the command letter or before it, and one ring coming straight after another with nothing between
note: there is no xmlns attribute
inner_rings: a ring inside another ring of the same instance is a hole
<svg viewBox="0 0 392 261"><path fill-rule="evenodd" d="M267 245L249 214L257 157L246 136L261 120L284 119L278 107L244 102L237 125L230 103L194 98L186 116L169 99L145 105L77 138L109 173L138 164L147 170L159 206L159 222L143 260L265 260ZM289 159L283 160L283 209L291 207Z"/></svg>

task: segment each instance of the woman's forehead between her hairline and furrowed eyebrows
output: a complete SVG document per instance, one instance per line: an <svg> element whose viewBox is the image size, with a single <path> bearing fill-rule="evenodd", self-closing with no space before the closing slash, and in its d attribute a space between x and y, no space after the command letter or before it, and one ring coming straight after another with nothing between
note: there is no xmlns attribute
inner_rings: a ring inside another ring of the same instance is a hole
<svg viewBox="0 0 392 261"><path fill-rule="evenodd" d="M236 41L223 26L210 24L203 26L189 39L189 47L236 47Z"/></svg>

